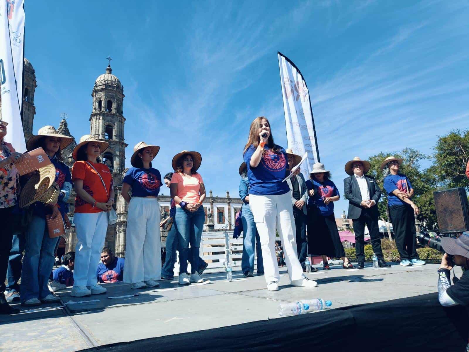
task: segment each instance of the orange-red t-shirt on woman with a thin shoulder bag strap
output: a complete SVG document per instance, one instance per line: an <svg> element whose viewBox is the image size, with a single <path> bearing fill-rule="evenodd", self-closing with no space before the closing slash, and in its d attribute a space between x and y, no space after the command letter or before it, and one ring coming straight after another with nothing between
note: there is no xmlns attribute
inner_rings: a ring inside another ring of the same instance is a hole
<svg viewBox="0 0 469 352"><path fill-rule="evenodd" d="M113 178L109 168L105 164L101 163L91 163L91 165L93 165L93 168L95 168L103 178L103 181L106 184L107 194L110 194L113 185ZM93 168L91 168L86 161L76 161L72 168L72 181L83 180L83 190L88 192L96 202L106 203L109 196L106 194L103 183ZM76 195L75 213L99 213L102 211L103 210L98 207L93 208L92 204L84 201Z"/></svg>

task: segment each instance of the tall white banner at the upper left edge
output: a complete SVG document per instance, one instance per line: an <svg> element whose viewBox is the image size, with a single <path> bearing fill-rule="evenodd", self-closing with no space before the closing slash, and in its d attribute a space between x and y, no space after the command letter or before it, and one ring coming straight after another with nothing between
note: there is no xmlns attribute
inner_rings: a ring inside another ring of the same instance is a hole
<svg viewBox="0 0 469 352"><path fill-rule="evenodd" d="M23 94L24 0L0 0L0 89L5 141L17 152L26 150L21 106ZM16 67L15 67L16 66Z"/></svg>

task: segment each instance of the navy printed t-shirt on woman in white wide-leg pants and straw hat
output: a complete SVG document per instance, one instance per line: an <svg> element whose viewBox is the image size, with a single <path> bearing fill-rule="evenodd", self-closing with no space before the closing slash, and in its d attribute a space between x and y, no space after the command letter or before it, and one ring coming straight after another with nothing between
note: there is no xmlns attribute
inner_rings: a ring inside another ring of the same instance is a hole
<svg viewBox="0 0 469 352"><path fill-rule="evenodd" d="M122 182L132 187L132 197L156 197L161 187L161 174L156 168L129 168Z"/></svg>

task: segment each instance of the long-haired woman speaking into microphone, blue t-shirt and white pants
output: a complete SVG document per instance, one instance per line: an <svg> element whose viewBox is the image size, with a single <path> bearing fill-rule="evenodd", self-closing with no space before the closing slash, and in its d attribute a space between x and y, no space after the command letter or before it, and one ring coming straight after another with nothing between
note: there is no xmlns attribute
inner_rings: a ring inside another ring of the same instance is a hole
<svg viewBox="0 0 469 352"><path fill-rule="evenodd" d="M287 182L287 153L273 143L269 121L257 117L249 130L243 154L248 168L250 208L259 232L267 290L279 289L280 273L275 256L275 230L280 235L288 275L293 286L318 284L303 275L296 256L295 220Z"/></svg>

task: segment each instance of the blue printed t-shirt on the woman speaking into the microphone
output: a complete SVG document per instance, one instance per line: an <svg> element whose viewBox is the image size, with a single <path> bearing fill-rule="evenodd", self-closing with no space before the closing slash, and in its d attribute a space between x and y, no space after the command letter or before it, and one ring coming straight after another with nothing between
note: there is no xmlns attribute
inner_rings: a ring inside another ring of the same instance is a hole
<svg viewBox="0 0 469 352"><path fill-rule="evenodd" d="M275 145L273 152L267 145L264 146L264 155L257 167L250 165L252 154L256 151L254 145L250 145L243 158L248 168L249 194L255 195L280 195L290 191L287 182L282 182L287 177L287 153L280 145Z"/></svg>

